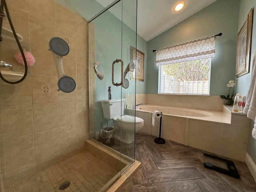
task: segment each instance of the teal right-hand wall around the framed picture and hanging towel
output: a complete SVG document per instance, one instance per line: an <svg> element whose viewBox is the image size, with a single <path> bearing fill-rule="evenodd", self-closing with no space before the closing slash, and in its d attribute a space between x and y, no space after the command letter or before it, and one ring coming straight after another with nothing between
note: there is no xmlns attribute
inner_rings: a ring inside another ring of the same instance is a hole
<svg viewBox="0 0 256 192"><path fill-rule="evenodd" d="M240 28L244 24L246 20L246 16L251 8L254 8L254 15L253 15L253 24L252 24L252 46L251 46L251 59L250 59L250 72L238 78L237 83L237 92L242 93L242 95L247 95L249 86L250 86L250 78L252 74L252 58L254 53L256 52L256 1L255 0L240 0L240 10L239 10L239 22L238 22L238 29L239 32ZM251 128L253 128L254 121L252 120ZM248 143L248 154L252 158L254 164L256 164L256 140L251 136L249 137Z"/></svg>

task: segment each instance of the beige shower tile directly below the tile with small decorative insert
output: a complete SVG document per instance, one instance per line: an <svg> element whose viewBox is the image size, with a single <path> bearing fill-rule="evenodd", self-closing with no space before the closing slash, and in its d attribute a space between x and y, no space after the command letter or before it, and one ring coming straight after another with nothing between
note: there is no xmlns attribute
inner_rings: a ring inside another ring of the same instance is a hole
<svg viewBox="0 0 256 192"><path fill-rule="evenodd" d="M34 132L58 127L58 103L34 104Z"/></svg>

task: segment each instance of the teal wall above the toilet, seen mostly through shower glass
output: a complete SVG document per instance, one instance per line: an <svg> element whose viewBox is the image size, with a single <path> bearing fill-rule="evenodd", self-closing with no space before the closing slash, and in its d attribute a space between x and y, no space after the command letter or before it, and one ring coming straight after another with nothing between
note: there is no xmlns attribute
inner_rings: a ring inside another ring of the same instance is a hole
<svg viewBox="0 0 256 192"><path fill-rule="evenodd" d="M100 5L98 2L95 0L56 0L56 2L62 4L63 6L66 6L70 10L77 12L87 20L92 18L94 15L96 15L98 12L100 12L104 7ZM132 3L131 0L124 0L123 1L123 6L126 8L123 9L124 15L123 15L123 20L127 21L127 18L129 24L133 24L134 20L136 19L136 12L134 12L134 7L132 7L134 4ZM135 4L136 5L136 4ZM115 12L118 12L118 10L122 10L121 8L118 8L120 6L120 3L116 4L113 8ZM131 14L132 13L132 14ZM120 13L117 13L116 15L120 16ZM95 33L96 33L96 56L95 59L100 61L100 68L98 69L99 72L102 72L104 74L104 80L108 79L109 86L112 86L111 82L111 77L112 77L112 71L110 70L109 66L106 66L104 63L110 63L112 64L113 60L116 58L120 58L120 46L121 46L121 40L116 42L116 46L112 50L107 50L108 55L106 56L107 58L102 58L102 48L107 48L108 45L102 45L102 46L97 46L100 45L102 42L106 42L106 40L109 40L109 38L114 38L112 42L116 41L116 38L120 37L120 31L115 30L118 28L118 26L121 26L120 20L111 14L110 12L104 13L104 16L100 16L100 20L96 19L93 22L98 22L98 24L95 25ZM121 17L120 17L121 18ZM135 23L134 23L135 24ZM110 34L106 33L106 29L112 27L112 31ZM132 28L132 29L131 29ZM134 44L134 35L136 30L136 26L126 26L123 24L123 42L122 45L123 47L126 47L126 50L122 50L123 54L123 60L125 61L125 67L127 66L128 60L130 60L130 46L136 47L136 44ZM115 38L116 37L116 38ZM146 61L147 61L147 42L143 38L137 35L137 49L143 52L145 55L145 65L144 65L144 82L136 82L136 93L141 94L141 93L146 93ZM113 55L114 54L114 55ZM130 73L127 74L126 78L130 77ZM129 78L128 78L129 79ZM96 86L98 86L98 81L96 81ZM135 82L130 81L130 86L127 90L124 90L122 92L122 95L127 94L127 93L135 93L134 90L131 90L132 86L135 86ZM99 87L99 86L98 86ZM112 95L114 98L120 97L120 90L112 86ZM100 93L100 96L98 100L102 99L107 99L107 91L106 88L102 89L102 93Z"/></svg>

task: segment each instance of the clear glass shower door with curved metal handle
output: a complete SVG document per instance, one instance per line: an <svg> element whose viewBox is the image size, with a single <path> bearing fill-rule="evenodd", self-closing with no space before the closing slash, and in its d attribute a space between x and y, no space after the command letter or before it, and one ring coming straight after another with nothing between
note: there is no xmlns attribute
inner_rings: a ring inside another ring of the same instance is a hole
<svg viewBox="0 0 256 192"><path fill-rule="evenodd" d="M130 164L135 152L136 81L131 80L135 68L131 50L136 48L136 6L136 0L115 1L88 24L90 138ZM103 113L102 103L119 105L114 120ZM124 115L129 115L130 122L124 124ZM132 142L124 142L128 135Z"/></svg>

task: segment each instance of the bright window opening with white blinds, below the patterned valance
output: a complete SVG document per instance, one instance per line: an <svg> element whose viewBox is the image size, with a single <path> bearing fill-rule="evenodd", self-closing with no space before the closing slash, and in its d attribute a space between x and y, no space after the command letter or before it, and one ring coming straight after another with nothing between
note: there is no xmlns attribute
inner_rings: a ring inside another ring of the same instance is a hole
<svg viewBox="0 0 256 192"><path fill-rule="evenodd" d="M159 66L158 93L209 94L211 59Z"/></svg>

